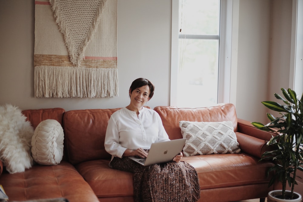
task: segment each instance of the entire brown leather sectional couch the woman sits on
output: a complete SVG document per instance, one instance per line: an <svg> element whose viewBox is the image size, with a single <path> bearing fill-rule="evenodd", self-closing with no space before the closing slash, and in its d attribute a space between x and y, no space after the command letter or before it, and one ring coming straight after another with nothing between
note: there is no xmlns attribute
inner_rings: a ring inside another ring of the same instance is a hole
<svg viewBox="0 0 303 202"><path fill-rule="evenodd" d="M0 184L10 200L65 197L70 202L133 201L132 174L108 166L104 149L108 119L116 109L64 111L62 108L25 110L35 128L42 120L55 119L64 129L64 156L58 165L34 165L22 173L8 174L0 162ZM264 198L273 187L266 177L271 162L259 161L271 134L238 119L233 104L207 108L158 106L171 139L182 138L179 121L232 121L240 154L183 157L195 167L201 187L199 201L228 202Z"/></svg>

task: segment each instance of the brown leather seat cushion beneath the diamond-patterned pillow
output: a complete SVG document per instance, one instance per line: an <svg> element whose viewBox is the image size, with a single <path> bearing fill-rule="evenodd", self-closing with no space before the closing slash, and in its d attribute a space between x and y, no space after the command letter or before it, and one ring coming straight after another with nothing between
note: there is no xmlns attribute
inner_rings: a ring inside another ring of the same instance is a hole
<svg viewBox="0 0 303 202"><path fill-rule="evenodd" d="M273 164L241 154L209 154L183 157L197 171L201 189L268 183L266 172Z"/></svg>

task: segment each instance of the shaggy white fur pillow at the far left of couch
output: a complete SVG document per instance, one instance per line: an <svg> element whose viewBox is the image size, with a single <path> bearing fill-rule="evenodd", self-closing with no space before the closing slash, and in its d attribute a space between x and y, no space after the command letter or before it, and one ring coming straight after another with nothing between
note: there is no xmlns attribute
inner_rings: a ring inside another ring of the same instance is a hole
<svg viewBox="0 0 303 202"><path fill-rule="evenodd" d="M33 134L33 127L18 107L0 106L0 159L9 173L32 167Z"/></svg>

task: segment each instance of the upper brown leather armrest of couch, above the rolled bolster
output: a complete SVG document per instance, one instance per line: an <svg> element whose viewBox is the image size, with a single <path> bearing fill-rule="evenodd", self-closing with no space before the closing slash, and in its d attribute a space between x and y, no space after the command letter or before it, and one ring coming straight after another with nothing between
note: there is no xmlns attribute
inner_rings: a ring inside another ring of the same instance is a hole
<svg viewBox="0 0 303 202"><path fill-rule="evenodd" d="M269 141L275 133L262 131L251 124L251 122L238 118L237 132L256 137L261 140Z"/></svg>

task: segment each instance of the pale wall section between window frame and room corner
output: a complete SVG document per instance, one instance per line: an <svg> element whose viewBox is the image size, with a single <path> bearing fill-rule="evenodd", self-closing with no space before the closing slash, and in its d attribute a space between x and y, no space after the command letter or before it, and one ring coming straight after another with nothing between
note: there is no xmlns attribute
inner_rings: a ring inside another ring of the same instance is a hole
<svg viewBox="0 0 303 202"><path fill-rule="evenodd" d="M267 94L270 36L270 0L240 0L236 110L239 118L265 121L261 104ZM233 73L232 73L233 74Z"/></svg>

